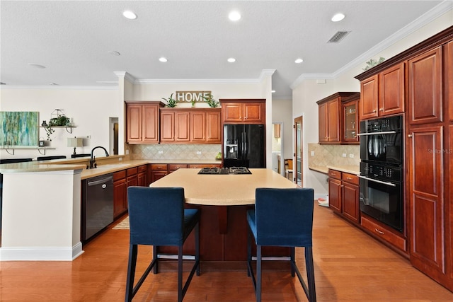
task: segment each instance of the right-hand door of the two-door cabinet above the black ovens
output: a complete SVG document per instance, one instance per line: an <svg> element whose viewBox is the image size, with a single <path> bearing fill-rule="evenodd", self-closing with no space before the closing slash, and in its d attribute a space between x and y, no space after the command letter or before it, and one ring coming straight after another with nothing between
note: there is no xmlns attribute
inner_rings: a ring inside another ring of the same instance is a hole
<svg viewBox="0 0 453 302"><path fill-rule="evenodd" d="M379 116L404 112L404 63L379 74Z"/></svg>

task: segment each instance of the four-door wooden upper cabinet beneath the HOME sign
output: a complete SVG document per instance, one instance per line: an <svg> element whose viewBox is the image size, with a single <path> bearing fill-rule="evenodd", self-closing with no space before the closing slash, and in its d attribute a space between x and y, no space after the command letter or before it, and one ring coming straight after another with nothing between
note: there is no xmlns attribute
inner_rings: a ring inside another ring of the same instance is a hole
<svg viewBox="0 0 453 302"><path fill-rule="evenodd" d="M220 108L162 108L161 143L221 144Z"/></svg>

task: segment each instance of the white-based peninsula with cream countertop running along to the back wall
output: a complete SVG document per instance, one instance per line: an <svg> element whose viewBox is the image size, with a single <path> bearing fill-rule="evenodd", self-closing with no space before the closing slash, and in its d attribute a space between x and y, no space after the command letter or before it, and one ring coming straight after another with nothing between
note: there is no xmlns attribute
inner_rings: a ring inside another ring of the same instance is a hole
<svg viewBox="0 0 453 302"><path fill-rule="evenodd" d="M28 161L0 165L3 197L0 261L64 260L79 257L81 243L81 181L160 161L96 158ZM174 161L166 161L172 163ZM177 161L193 165L214 161Z"/></svg>

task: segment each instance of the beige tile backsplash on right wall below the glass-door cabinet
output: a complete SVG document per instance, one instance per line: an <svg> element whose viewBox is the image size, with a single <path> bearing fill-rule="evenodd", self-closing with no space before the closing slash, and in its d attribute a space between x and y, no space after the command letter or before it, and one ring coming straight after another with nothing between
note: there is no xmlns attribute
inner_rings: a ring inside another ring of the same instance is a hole
<svg viewBox="0 0 453 302"><path fill-rule="evenodd" d="M359 165L359 145L309 145L309 166L310 165ZM311 156L314 152L314 156ZM345 154L345 157L343 155ZM353 158L350 157L352 154Z"/></svg>

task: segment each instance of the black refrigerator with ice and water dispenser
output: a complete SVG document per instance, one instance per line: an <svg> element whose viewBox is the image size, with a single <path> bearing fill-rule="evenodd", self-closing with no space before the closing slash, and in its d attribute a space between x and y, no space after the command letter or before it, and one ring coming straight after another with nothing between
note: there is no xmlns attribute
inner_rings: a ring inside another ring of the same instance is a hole
<svg viewBox="0 0 453 302"><path fill-rule="evenodd" d="M224 167L266 168L263 124L224 124Z"/></svg>

